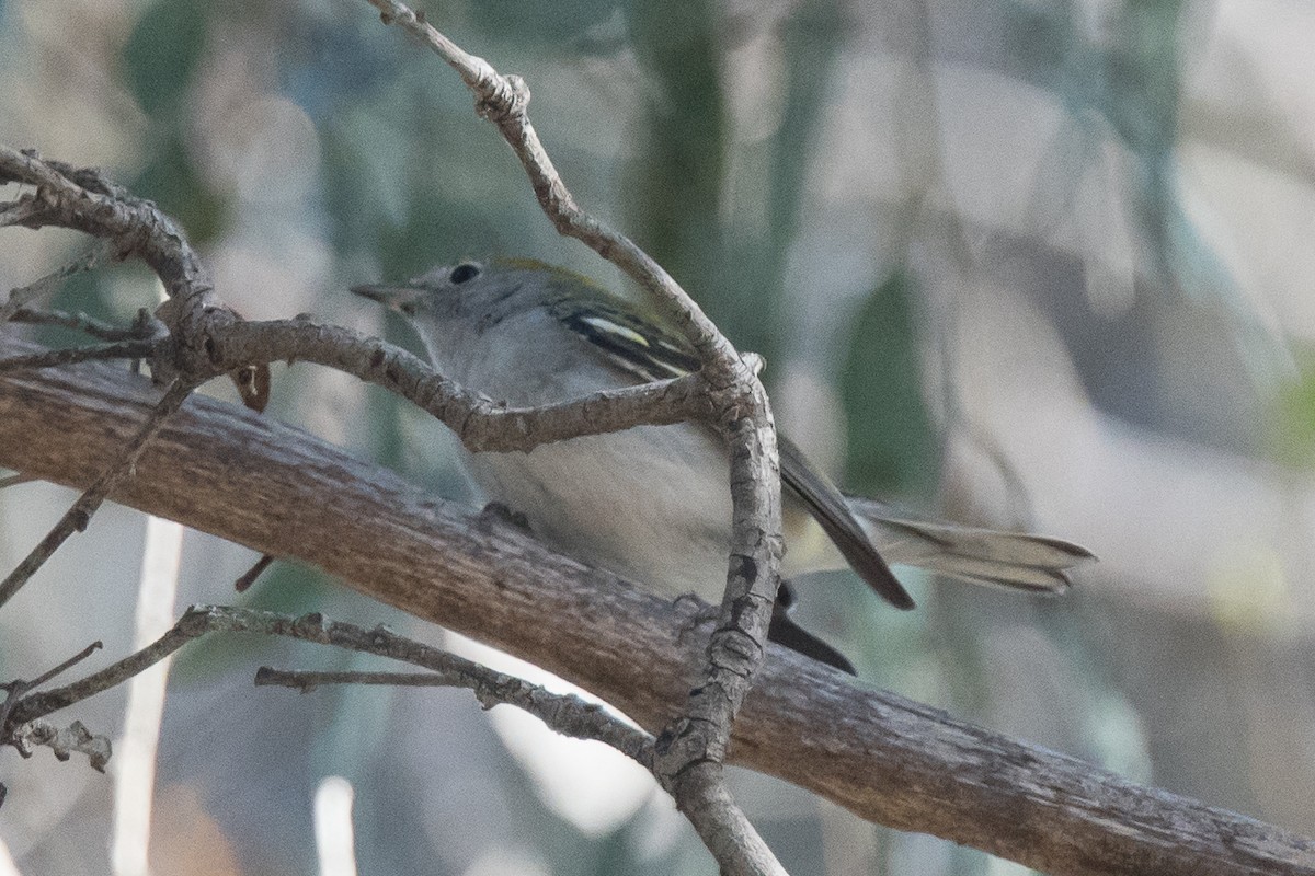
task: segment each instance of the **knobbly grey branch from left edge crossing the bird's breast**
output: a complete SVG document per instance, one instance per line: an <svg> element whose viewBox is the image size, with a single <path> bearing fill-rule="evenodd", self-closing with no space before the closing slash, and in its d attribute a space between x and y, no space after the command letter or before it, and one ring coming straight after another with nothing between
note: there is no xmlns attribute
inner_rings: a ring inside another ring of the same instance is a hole
<svg viewBox="0 0 1315 876"><path fill-rule="evenodd" d="M279 360L318 361L404 395L452 427L476 450L529 450L580 435L707 418L713 410L702 376L598 393L543 410L506 408L437 376L417 357L356 332L300 319L241 320L214 299L204 267L168 217L149 201L118 192L100 176L0 144L0 179L38 186L42 201L38 225L112 239L120 252L139 256L160 277L171 298L156 311L156 324L170 332L171 347L170 356L156 355L151 360L156 377L199 383ZM158 339L158 330L146 331L145 326L141 330L134 338ZM16 361L12 366L62 364L70 361L63 356L78 359L92 353L50 356Z"/></svg>

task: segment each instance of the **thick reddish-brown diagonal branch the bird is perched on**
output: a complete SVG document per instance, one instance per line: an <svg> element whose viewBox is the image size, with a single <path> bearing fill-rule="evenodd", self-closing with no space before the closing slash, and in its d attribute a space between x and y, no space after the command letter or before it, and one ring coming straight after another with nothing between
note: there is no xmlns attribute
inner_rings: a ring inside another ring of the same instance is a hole
<svg viewBox="0 0 1315 876"><path fill-rule="evenodd" d="M0 355L26 352L0 339ZM85 487L156 401L145 378L99 364L0 376L0 465ZM316 565L558 672L654 730L698 678L698 649L679 641L693 607L233 406L189 399L113 496ZM1052 873L1315 875L1310 839L856 688L775 646L735 724L730 760L871 821Z"/></svg>

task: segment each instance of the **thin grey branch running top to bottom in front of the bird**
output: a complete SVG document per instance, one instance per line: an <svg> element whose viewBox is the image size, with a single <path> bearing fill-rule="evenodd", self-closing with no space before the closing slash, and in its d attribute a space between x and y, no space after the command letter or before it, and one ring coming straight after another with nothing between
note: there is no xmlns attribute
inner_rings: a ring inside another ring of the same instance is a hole
<svg viewBox="0 0 1315 876"><path fill-rule="evenodd" d="M767 393L752 366L661 265L575 202L530 122L530 89L523 79L498 74L396 0L370 3L384 24L405 29L456 70L475 95L476 112L497 125L521 160L558 231L593 248L654 296L704 362L714 402L707 422L731 457L730 571L721 623L707 646L705 680L690 691L684 717L663 734L658 775L725 871L784 873L732 805L721 771L731 724L765 654L782 553L780 462Z"/></svg>

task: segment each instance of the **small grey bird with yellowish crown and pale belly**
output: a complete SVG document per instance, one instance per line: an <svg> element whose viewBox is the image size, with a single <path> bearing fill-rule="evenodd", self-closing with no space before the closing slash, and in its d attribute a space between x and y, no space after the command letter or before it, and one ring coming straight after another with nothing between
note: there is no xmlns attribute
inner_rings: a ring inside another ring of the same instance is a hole
<svg viewBox="0 0 1315 876"><path fill-rule="evenodd" d="M444 377L510 406L567 402L701 366L656 313L533 259L463 260L351 292L404 317ZM790 617L789 582L801 574L848 565L888 603L910 609L890 565L1059 594L1069 571L1093 559L1060 538L924 520L846 496L789 437L777 437L786 552L768 638L842 671L855 668ZM639 426L529 452L460 453L484 498L560 553L664 596L721 600L730 475L726 447L709 427Z"/></svg>

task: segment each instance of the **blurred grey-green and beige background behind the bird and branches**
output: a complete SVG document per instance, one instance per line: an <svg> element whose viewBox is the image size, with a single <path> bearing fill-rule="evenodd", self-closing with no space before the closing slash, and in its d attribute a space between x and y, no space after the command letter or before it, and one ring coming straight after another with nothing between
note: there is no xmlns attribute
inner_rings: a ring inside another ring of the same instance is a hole
<svg viewBox="0 0 1315 876"><path fill-rule="evenodd" d="M1315 8L447 0L429 17L527 77L580 202L767 357L780 424L848 489L1101 557L1061 599L906 574L910 613L848 574L805 582L805 625L863 683L1315 834ZM347 286L490 253L625 288L556 236L458 77L363 0L0 0L0 142L156 200L249 318L310 313L414 349ZM0 242L0 290L88 247ZM139 267L101 267L50 303L126 320L158 294ZM381 391L279 368L271 415L475 502L443 428ZM0 565L71 498L0 493ZM145 525L103 511L0 612L0 678L96 638L88 666L130 649ZM187 533L180 603L452 644L305 567L237 598L254 559ZM264 640L185 650L155 873L316 872L329 775L355 787L363 872L714 872L601 746L460 692L252 690L259 663L364 665ZM124 699L60 717L114 734ZM105 871L110 779L12 750L0 779L24 873ZM1027 872L736 783L796 873Z"/></svg>

